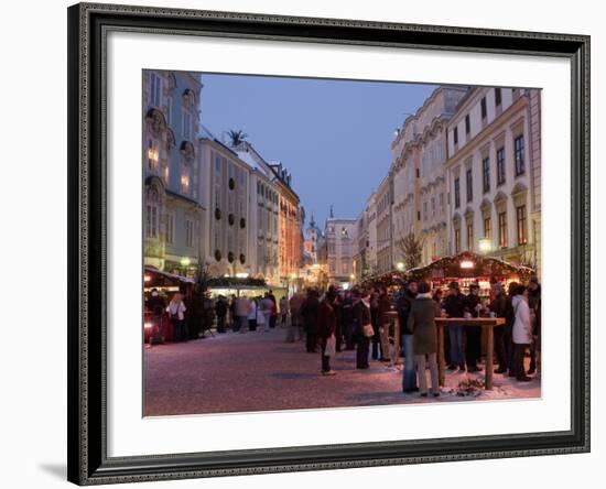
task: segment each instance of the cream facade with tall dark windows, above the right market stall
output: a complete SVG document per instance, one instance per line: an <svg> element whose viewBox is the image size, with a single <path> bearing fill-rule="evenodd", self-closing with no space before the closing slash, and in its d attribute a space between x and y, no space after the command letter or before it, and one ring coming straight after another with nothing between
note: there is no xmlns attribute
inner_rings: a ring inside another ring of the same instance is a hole
<svg viewBox="0 0 606 489"><path fill-rule="evenodd" d="M513 263L539 254L538 111L540 93L532 89L474 88L461 101L447 127L452 253L487 252Z"/></svg>

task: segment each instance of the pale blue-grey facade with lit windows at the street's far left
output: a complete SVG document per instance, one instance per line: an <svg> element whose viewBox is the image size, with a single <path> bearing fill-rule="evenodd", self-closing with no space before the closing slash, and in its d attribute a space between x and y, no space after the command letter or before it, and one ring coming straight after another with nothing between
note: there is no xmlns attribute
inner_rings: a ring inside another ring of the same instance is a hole
<svg viewBox="0 0 606 489"><path fill-rule="evenodd" d="M202 82L143 72L143 260L193 275L205 253L197 148Z"/></svg>

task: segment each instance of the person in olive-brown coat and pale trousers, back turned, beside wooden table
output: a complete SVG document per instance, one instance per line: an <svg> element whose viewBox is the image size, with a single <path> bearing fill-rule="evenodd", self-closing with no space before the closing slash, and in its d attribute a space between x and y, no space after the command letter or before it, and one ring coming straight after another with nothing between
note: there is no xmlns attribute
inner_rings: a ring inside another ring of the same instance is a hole
<svg viewBox="0 0 606 489"><path fill-rule="evenodd" d="M431 390L433 395L440 395L437 377L437 326L435 318L440 315L437 304L432 300L430 284L419 283L419 294L412 303L408 316L407 329L413 333L414 360L419 376L419 390L422 396L428 395L428 374L425 357L429 361L431 374Z"/></svg>

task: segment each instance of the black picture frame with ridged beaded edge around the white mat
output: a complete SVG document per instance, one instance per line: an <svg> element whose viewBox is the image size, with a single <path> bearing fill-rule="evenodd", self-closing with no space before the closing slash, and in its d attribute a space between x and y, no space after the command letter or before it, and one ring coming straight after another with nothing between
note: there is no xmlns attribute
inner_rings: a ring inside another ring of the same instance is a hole
<svg viewBox="0 0 606 489"><path fill-rule="evenodd" d="M589 36L79 3L68 15L68 480L131 482L589 450ZM560 56L572 68L571 428L110 458L106 431L109 31Z"/></svg>

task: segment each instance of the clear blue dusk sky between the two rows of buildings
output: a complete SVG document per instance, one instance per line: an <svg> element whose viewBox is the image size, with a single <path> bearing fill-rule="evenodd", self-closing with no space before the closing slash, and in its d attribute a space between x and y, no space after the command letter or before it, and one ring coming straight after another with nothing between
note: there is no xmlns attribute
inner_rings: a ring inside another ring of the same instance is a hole
<svg viewBox="0 0 606 489"><path fill-rule="evenodd" d="M202 123L217 139L241 129L267 161L281 161L321 228L355 218L387 174L393 131L433 85L202 75Z"/></svg>

